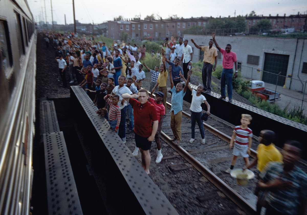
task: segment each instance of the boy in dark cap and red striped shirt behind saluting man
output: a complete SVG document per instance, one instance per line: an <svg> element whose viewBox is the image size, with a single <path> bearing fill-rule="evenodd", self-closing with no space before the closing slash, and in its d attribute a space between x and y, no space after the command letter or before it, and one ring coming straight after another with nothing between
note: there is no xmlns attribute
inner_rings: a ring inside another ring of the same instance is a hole
<svg viewBox="0 0 307 215"><path fill-rule="evenodd" d="M155 134L155 140L157 143L157 159L156 159L156 163L160 163L163 155L161 153L161 142L160 142L160 133L161 133L161 126L162 126L162 122L163 122L163 117L165 115L165 107L162 104L162 100L164 97L164 93L163 92L156 92L155 93L155 98L151 98L149 97L149 102L151 104L153 104L156 108L157 111L157 117L158 117L158 130L157 133ZM134 152L132 153L134 156L138 155L138 147L135 147Z"/></svg>

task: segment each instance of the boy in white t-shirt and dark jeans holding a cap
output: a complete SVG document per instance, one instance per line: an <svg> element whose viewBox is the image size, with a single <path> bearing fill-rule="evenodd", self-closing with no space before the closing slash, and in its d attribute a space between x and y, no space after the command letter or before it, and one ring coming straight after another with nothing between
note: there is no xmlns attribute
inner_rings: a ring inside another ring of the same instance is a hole
<svg viewBox="0 0 307 215"><path fill-rule="evenodd" d="M188 85L188 88L192 91L192 102L190 107L192 138L190 139L189 142L193 143L193 141L195 140L195 123L197 121L202 139L201 144L205 144L206 143L205 130L203 125L203 120L201 119L202 108L200 105L202 103L205 103L207 105L207 115L210 115L210 105L207 102L205 96L201 94L201 92L203 92L204 90L204 87L202 85L198 85L196 90L192 89L190 85Z"/></svg>

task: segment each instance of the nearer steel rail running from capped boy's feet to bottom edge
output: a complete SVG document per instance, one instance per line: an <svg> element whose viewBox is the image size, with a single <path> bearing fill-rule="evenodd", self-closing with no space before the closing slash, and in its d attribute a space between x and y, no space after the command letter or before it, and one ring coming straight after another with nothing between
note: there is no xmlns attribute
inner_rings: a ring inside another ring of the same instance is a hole
<svg viewBox="0 0 307 215"><path fill-rule="evenodd" d="M206 168L202 163L196 160L190 153L183 149L180 145L175 145L171 141L170 137L161 131L161 138L169 144L177 153L179 153L185 160L188 161L194 168L196 168L204 177L206 177L211 183L213 183L219 190L221 190L228 198L231 199L237 206L239 206L247 214L255 214L256 209L249 202L247 202L242 196L240 196L235 190L229 187L213 172Z"/></svg>

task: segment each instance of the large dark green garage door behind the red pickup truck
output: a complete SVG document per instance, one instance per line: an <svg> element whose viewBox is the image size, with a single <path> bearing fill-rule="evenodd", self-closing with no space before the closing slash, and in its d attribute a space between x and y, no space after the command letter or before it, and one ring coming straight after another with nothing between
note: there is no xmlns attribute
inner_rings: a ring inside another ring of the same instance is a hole
<svg viewBox="0 0 307 215"><path fill-rule="evenodd" d="M286 76L287 74L289 55L271 53L265 53L265 55L262 81L276 84L277 74L281 72L278 76L277 85L283 86L286 79L286 77L283 76Z"/></svg>

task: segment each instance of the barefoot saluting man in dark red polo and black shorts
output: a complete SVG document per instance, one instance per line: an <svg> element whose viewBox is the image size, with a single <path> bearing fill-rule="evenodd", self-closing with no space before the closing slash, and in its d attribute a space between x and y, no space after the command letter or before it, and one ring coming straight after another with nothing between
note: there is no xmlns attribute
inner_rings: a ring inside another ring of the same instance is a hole
<svg viewBox="0 0 307 215"><path fill-rule="evenodd" d="M142 167L149 175L151 160L149 150L151 142L153 141L158 129L156 108L154 105L147 102L148 92L146 89L140 89L138 94L133 95L124 93L122 94L122 98L129 102L133 107L135 144L141 151ZM135 98L138 98L138 100ZM153 122L153 125L151 122Z"/></svg>

